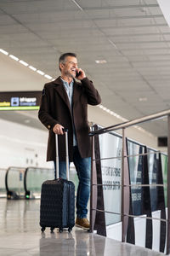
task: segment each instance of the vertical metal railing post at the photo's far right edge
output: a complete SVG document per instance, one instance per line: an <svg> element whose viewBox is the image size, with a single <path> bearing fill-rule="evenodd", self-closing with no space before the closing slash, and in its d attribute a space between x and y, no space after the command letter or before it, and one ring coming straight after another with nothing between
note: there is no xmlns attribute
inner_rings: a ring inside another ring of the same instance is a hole
<svg viewBox="0 0 170 256"><path fill-rule="evenodd" d="M170 253L170 115L167 115L167 254Z"/></svg>

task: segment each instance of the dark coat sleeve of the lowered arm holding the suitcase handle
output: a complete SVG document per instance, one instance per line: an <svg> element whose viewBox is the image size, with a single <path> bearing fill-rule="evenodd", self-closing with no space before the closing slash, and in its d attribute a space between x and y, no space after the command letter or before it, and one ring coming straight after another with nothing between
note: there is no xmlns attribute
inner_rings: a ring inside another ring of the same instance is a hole
<svg viewBox="0 0 170 256"><path fill-rule="evenodd" d="M50 96L47 84L44 85L42 90L42 97L40 102L40 109L38 111L38 118L48 130L52 130L54 125L59 122L51 116L50 111Z"/></svg>

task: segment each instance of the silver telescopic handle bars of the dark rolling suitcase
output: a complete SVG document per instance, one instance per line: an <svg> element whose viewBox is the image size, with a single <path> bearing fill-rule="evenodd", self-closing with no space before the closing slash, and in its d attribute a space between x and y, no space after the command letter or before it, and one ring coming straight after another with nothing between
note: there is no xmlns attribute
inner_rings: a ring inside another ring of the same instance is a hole
<svg viewBox="0 0 170 256"><path fill-rule="evenodd" d="M65 163L66 163L66 178L69 180L69 149L68 149L68 129L64 128L65 132ZM59 178L59 143L58 134L55 134L55 149L56 149L56 178Z"/></svg>

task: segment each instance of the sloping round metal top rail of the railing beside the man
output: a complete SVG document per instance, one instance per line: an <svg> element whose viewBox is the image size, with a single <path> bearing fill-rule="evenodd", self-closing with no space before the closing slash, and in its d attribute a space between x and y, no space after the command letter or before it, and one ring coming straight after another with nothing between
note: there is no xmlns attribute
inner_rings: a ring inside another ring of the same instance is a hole
<svg viewBox="0 0 170 256"><path fill-rule="evenodd" d="M152 113L152 114L146 115L142 118L133 119L131 121L127 121L127 122L124 122L124 123L121 123L121 124L111 125L111 126L103 128L103 129L99 129L98 131L91 131L89 133L89 136L103 134L103 133L106 133L106 132L109 132L109 131L116 131L116 130L127 128L127 127L133 126L133 125L139 125L141 123L144 123L144 122L147 122L147 121L150 121L150 120L153 120L153 119L160 119L162 117L167 116L168 114L170 114L170 109L164 110L164 111L161 111L161 112L158 112L158 113Z"/></svg>

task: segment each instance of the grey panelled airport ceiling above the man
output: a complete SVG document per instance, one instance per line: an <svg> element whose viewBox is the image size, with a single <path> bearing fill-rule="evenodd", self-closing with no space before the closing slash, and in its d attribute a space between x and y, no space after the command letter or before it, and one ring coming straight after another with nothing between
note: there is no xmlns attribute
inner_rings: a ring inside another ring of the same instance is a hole
<svg viewBox="0 0 170 256"><path fill-rule="evenodd" d="M102 104L126 119L170 108L170 27L156 0L1 0L0 35L1 49L54 78L59 55L76 52ZM158 136L165 125L144 128Z"/></svg>

